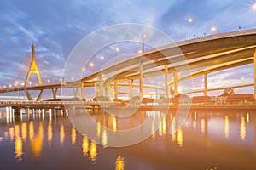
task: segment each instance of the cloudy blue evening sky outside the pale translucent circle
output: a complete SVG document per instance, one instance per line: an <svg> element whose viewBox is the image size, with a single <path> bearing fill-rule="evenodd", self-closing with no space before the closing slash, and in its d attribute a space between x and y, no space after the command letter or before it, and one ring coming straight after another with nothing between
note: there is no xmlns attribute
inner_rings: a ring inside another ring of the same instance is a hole
<svg viewBox="0 0 256 170"><path fill-rule="evenodd" d="M104 26L137 23L165 32L175 42L191 37L251 29L256 15L251 0L1 0L0 2L0 86L24 82L35 42L38 67L44 80L59 80L65 61L75 45ZM253 65L246 65L251 73ZM234 71L237 75L239 69ZM239 72L238 72L239 73ZM241 73L239 73L241 74ZM239 80L224 72L222 78ZM214 78L212 78L214 79ZM209 79L211 80L211 78ZM223 79L224 80L224 79ZM253 77L244 78L252 82Z"/></svg>

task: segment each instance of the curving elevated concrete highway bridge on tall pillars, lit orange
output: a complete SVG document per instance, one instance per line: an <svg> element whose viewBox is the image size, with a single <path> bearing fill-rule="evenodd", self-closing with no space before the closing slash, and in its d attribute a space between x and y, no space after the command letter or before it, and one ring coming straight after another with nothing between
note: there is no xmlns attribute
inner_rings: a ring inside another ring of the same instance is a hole
<svg viewBox="0 0 256 170"><path fill-rule="evenodd" d="M139 88L140 99L143 99L144 88L154 88L164 91L166 97L170 96L170 88L173 87L174 95L178 94L178 83L192 77L204 76L204 89L186 92L204 92L224 89L227 87L207 88L207 74L225 69L256 63L256 30L234 31L208 37L195 38L190 41L177 42L157 49L149 50L143 54L131 56L129 59L103 68L101 71L83 77L81 80L60 84L42 84L38 86L24 86L17 88L2 88L0 93L25 90L27 98L32 100L29 91L39 90L37 100L41 100L45 89L51 89L53 99L61 88L73 88L74 97L78 97L80 89L81 99L84 99L84 88L96 87L96 95L107 95L108 91L118 98L118 94L130 94L135 87ZM183 60L183 56L186 60ZM187 75L179 76L179 72L187 72ZM192 71L192 72L190 72ZM173 75L173 81L168 80L168 75ZM147 85L145 77L165 77L164 88ZM107 77L108 76L108 77ZM67 78L65 79L67 80ZM134 83L139 80L139 83ZM256 68L254 66L254 82L256 81ZM232 88L254 87L255 83L234 85ZM128 87L128 92L123 92L119 87Z"/></svg>

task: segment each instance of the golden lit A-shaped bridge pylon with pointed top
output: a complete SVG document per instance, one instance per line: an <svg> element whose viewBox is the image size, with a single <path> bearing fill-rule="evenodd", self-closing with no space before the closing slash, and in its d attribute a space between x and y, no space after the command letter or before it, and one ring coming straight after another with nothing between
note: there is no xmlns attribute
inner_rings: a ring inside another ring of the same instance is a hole
<svg viewBox="0 0 256 170"><path fill-rule="evenodd" d="M27 83L29 82L29 78L30 78L31 74L37 74L38 84L43 84L42 78L41 78L39 70L38 70L38 65L37 65L37 62L36 62L34 42L32 42L31 48L32 48L32 61L31 61L31 64L29 66L29 70L28 70L27 75L26 75L25 86L27 86Z"/></svg>

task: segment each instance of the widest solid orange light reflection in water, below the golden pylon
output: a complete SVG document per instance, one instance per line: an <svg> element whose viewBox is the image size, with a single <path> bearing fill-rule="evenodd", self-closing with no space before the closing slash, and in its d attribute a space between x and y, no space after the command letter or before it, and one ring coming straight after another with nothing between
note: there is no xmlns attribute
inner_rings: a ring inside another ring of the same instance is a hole
<svg viewBox="0 0 256 170"><path fill-rule="evenodd" d="M38 136L32 140L32 152L35 158L41 155L44 139L44 128L42 122L39 124Z"/></svg>

